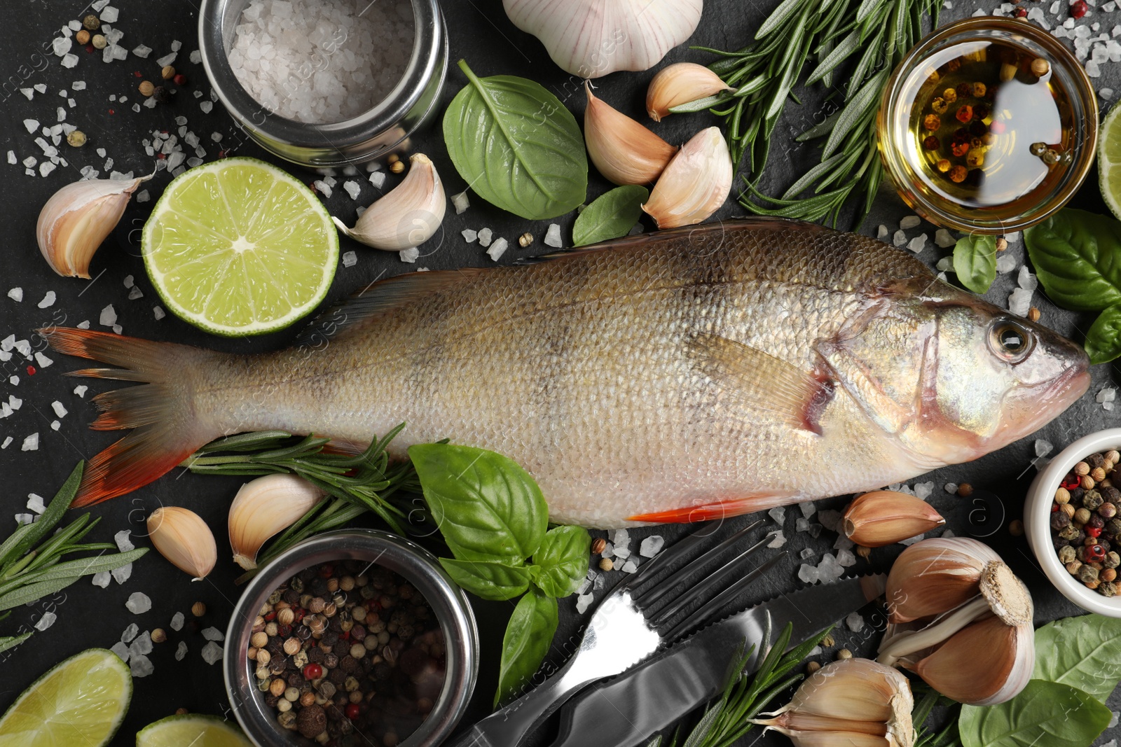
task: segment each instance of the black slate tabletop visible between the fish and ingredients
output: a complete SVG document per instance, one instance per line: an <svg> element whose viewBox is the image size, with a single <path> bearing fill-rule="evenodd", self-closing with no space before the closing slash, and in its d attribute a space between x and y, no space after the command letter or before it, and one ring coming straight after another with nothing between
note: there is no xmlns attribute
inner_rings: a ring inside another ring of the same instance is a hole
<svg viewBox="0 0 1121 747"><path fill-rule="evenodd" d="M93 262L93 281L63 279L56 277L46 267L35 243L36 216L46 199L64 184L76 180L78 170L86 165L106 174L103 168L104 158L99 157L96 149L104 148L106 156L112 158L113 169L133 170L146 174L151 170L152 159L145 155L140 141L151 136L152 130L175 131L176 116L186 116L187 127L197 133L207 148L207 160L216 158L220 151L230 150L238 155L254 156L274 162L279 162L266 155L250 142L233 125L220 104L215 104L210 113L202 111L200 102L209 101L210 87L206 84L202 66L188 62L189 52L196 45L197 4L191 0L170 2L138 2L137 0L115 0L120 7L120 19L115 24L124 31L121 45L132 49L143 44L154 49L148 59L129 55L128 59L104 64L100 54L86 54L77 48L78 65L73 69L59 66L58 58L50 54L50 39L58 36L58 28L67 21L83 17L87 8L78 3L6 3L9 13L8 34L0 37L0 60L3 62L4 81L0 81L0 132L3 132L3 147L0 151L13 150L22 160L27 156L38 157L39 149L34 144L34 137L28 134L24 120L36 119L43 124L53 124L56 120L56 108L67 110L66 121L75 123L89 136L89 143L81 150L61 149L70 160L70 166L59 168L54 174L43 178L28 177L24 166L9 166L0 161L4 178L0 180L0 205L2 205L4 242L0 250L0 338L15 333L17 339L36 338L33 330L45 324L76 324L89 319L93 328L102 328L98 320L101 310L113 305L118 314L118 324L127 335L138 337L176 340L195 344L228 352L261 352L287 345L294 337L295 328L249 339L228 339L210 336L174 317L163 320L154 318L152 307L158 302L156 293L145 274L143 264L139 258L138 228L142 226L151 203L132 203L120 226L106 241ZM692 43L717 48L736 48L744 45L753 29L773 7L771 0L708 0L705 7L701 27ZM981 4L991 12L997 3ZM1028 4L1028 3L1025 3ZM1031 3L1031 7L1045 7L1048 3ZM1065 3L1064 3L1065 4ZM992 7L991 7L992 6ZM946 10L943 20L972 15L978 8L974 2L958 2L956 8ZM554 91L564 103L573 110L577 119L583 111L583 95L580 82L571 78L558 69L545 54L540 44L532 37L516 29L502 12L498 0L448 0L444 3L444 12L451 29L453 64L450 67L448 81L443 93L446 104L463 85L464 80L454 66L454 60L464 57L479 75L517 74L539 81ZM1101 21L1105 28L1111 28L1115 21L1112 16L1121 18L1121 12L1102 13ZM133 112L133 103L141 101L136 86L143 78L158 76L159 67L155 59L170 50L173 40L180 40L183 47L175 62L179 72L188 77L188 83L179 92L174 103L155 109L141 109ZM689 52L687 48L673 50L667 62L698 60L706 62L704 55ZM617 73L597 81L599 95L618 109L645 120L643 97L646 84L652 72ZM73 81L84 81L84 91L72 91ZM19 87L35 84L46 86L46 93L36 93L28 101L17 92ZM1121 88L1121 76L1114 66L1105 65L1102 78L1097 85L1114 85ZM75 100L76 106L68 108L59 90L66 88L68 96ZM203 90L207 95L196 99L195 88ZM120 96L128 101L120 102ZM111 100L112 96L117 101ZM789 174L803 169L814 159L814 149L794 143L793 137L814 121L822 109L807 100L804 106L791 103L787 108L786 119L779 128L775 152L771 159L772 175L763 180L763 185L775 188L789 184ZM654 129L671 142L683 142L694 131L713 122L706 114L695 116L673 116L666 122L654 125ZM219 133L222 139L215 142L212 133ZM240 143L240 144L239 144ZM444 178L448 194L460 192L465 186L447 159L439 136L438 127L415 138L415 148L433 158ZM312 172L293 167L293 172L305 181L316 178ZM168 176L160 172L147 185L152 197L166 186ZM387 188L395 184L391 178ZM1097 175L1091 174L1086 186L1073 200L1073 205L1091 211L1105 212L1097 192ZM589 197L605 192L609 185L595 174L591 176ZM362 193L356 202L351 200L341 189L341 181L335 194L326 200L331 212L343 221L352 223L358 205L369 204L376 197L369 184L363 183ZM864 221L860 230L874 235L877 226L887 225L891 232L898 228L900 218L910 212L889 190L884 189L877 202L872 215ZM725 218L742 214L742 209L730 200L717 213L716 218ZM566 243L571 237L574 215L559 218ZM511 249L502 258L509 262L516 258L529 256L549 251L541 240L548 222L531 223L504 214L488 206L481 198L472 195L471 208L463 215L448 211L443 231L420 248L421 258L415 264L400 262L396 254L382 253L360 246L343 239L344 251L355 250L358 263L351 268L340 267L331 290L331 299L337 299L369 283L376 278L408 272L419 267L432 270L452 269L458 267L488 267L491 260L475 244L465 243L460 236L464 228L480 230L490 227L495 236L504 236ZM651 226L647 222L646 228ZM531 232L536 239L532 246L521 250L517 239L524 232ZM934 226L924 224L920 228L908 231L909 236L926 232L933 239ZM949 250L927 243L920 256L933 264ZM1010 252L1023 261L1022 242L1013 243ZM129 288L124 284L127 276L135 278L136 284L143 293L142 298L129 299ZM16 302L6 293L10 288L20 287L24 300ZM1015 273L1000 276L986 298L998 305L1007 306L1007 298L1015 287ZM47 293L56 293L55 302L46 308L37 305ZM1035 305L1043 310L1043 321L1063 334L1081 339L1092 320L1086 316L1072 315L1049 304L1041 292L1036 293ZM93 417L90 398L96 391L112 389L104 382L77 382L62 374L76 367L76 362L64 356L48 353L54 360L49 367L39 366L34 375L26 368L27 362L21 356L15 356L4 366L0 377L0 399L7 400L13 394L22 400L22 407L11 417L0 419L0 442L8 436L12 442L0 450L0 467L2 467L3 492L0 493L0 534L7 535L15 527L12 514L21 513L29 493L48 497L63 483L74 464L81 458L89 458L100 449L115 440L117 433L94 432L86 428ZM1034 470L1027 469L1029 460L1035 456L1034 441L1044 438L1056 446L1056 450L1084 433L1103 427L1117 426L1121 422L1121 411L1105 412L1094 402L1094 394L1103 386L1112 385L1114 371L1112 366L1096 366L1093 370L1094 383L1090 392L1074 407L1048 424L1036 436L1009 446L999 452L991 454L969 465L947 467L920 480L933 480L936 485L930 502L947 517L948 526L957 534L967 530L967 513L972 510L970 502L949 495L943 491L946 483L969 482L978 488L994 492L1000 496L1004 510L1003 524L1019 516L1025 489ZM18 385L9 382L9 376L19 376ZM90 392L84 399L73 393L76 383L89 383ZM517 393L511 393L517 395ZM52 402L63 403L68 414L58 419L59 428L52 430L50 423L56 420ZM39 433L39 447L34 451L21 451L24 438L33 432ZM101 589L92 586L87 579L67 589L55 600L57 622L49 629L38 633L22 646L0 655L0 709L7 708L17 694L48 667L65 656L91 646L109 647L120 639L121 632L136 622L140 629L163 627L168 631L166 643L156 646L150 655L155 663L155 673L145 679L136 680L136 695L128 717L113 741L114 745L133 744L133 735L145 725L173 713L177 708L187 708L193 712L231 716L224 695L221 665L207 665L203 662L200 651L205 641L194 632L188 624L182 632L170 631L168 623L176 611L187 614L195 601L204 601L207 613L202 619L203 627L214 625L224 628L230 611L235 603L239 589L233 583L237 568L228 561L229 548L225 540L225 516L230 499L243 482L240 478L203 477L191 474L168 475L136 493L115 498L95 506L92 513L101 519L93 539L111 541L112 535L123 529L131 530L138 545L146 545L145 517L159 505L184 505L200 513L214 529L219 539L220 562L214 572L202 582L192 583L189 579L156 553L151 553L138 562L131 579L124 585L111 583ZM915 480L915 482L920 482ZM833 498L818 502L818 508L841 510L846 498ZM789 538L786 550L787 558L765 579L744 596L744 604L768 598L780 591L794 589L800 585L797 580L799 553L808 548L813 558L807 562L817 562L822 553L833 552L835 539L833 532L826 531L817 539L808 533L795 532L795 517L800 515L796 507L786 512L785 531ZM734 526L742 525L745 517L730 522ZM768 520L768 527L775 524ZM729 527L726 531L731 531ZM760 533L762 530L758 530ZM632 549L648 534L661 534L671 541L682 532L680 527L666 526L631 532ZM1066 601L1048 583L1039 570L1022 536L1012 536L1007 526L1001 526L985 541L1012 566L1017 573L1030 587L1036 604L1036 623L1043 624L1059 617L1080 614L1080 609ZM886 570L891 559L901 550L899 545L877 550L871 563L860 561L852 570ZM618 573L614 575L618 577ZM143 591L151 597L152 609L140 616L129 613L124 603L133 591ZM602 596L603 592L600 592ZM11 618L0 623L0 634L10 634L16 629L33 624L44 610L44 604L30 608L20 608ZM479 678L476 695L472 703L469 718L479 718L488 712L488 707L497 681L498 652L504 629L506 618L511 606L509 604L484 603L475 600L475 611L482 635L483 663ZM560 627L556 641L565 641L575 635L581 625L581 617L575 613L574 599L560 604ZM860 634L852 633L843 625L836 633L835 648L847 646L855 653L870 654L874 650L878 636L870 635L865 628ZM186 641L189 653L183 662L176 662L174 652L179 641ZM835 651L825 652L821 661L827 661ZM550 661L563 661L559 647L554 647ZM1121 698L1117 693L1110 699L1112 709L1121 708ZM1102 740L1118 736L1118 729L1110 729ZM753 732L745 744L787 744L778 736L767 736L757 739ZM540 739L547 744L547 739Z"/></svg>

